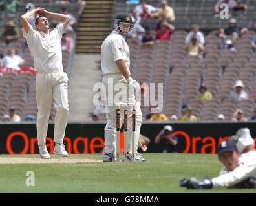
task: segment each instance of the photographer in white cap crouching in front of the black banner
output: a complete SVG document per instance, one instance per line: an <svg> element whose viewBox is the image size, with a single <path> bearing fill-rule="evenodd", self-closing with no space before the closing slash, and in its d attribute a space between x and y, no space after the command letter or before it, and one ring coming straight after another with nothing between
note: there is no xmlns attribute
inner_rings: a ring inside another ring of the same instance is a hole
<svg viewBox="0 0 256 206"><path fill-rule="evenodd" d="M161 145L162 153L177 152L178 137L171 135L172 132L173 127L165 125L155 138L155 144Z"/></svg>

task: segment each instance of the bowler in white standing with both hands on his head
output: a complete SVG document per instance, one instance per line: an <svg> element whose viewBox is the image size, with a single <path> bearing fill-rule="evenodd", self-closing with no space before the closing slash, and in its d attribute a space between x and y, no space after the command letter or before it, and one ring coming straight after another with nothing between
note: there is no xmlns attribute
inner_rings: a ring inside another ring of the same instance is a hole
<svg viewBox="0 0 256 206"><path fill-rule="evenodd" d="M30 16L36 18L36 30L28 23ZM50 31L47 16L58 19L60 22ZM48 12L43 8L35 8L22 15L21 25L23 36L27 40L30 52L34 57L34 66L38 71L36 75L37 100L37 139L41 158L50 158L45 146L48 120L52 99L56 109L54 127L54 154L67 156L63 138L68 118L67 74L63 71L61 37L69 23L69 16Z"/></svg>

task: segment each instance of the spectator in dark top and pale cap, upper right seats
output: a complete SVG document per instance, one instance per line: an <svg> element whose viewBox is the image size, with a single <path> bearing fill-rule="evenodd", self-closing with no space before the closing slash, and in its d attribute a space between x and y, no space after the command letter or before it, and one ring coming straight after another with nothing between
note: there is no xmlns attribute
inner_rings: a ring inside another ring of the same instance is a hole
<svg viewBox="0 0 256 206"><path fill-rule="evenodd" d="M231 18L229 21L229 26L225 28L225 34L232 35L233 41L237 41L237 39L246 32L248 32L248 28L242 28L241 26L237 25L237 20L235 18Z"/></svg>

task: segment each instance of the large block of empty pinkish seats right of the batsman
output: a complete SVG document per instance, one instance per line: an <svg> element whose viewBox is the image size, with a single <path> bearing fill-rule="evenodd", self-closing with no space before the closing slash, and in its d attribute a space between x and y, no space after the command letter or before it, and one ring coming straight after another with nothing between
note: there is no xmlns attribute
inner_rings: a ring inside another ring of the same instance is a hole
<svg viewBox="0 0 256 206"><path fill-rule="evenodd" d="M154 46L129 44L131 68L135 79L143 82L164 83L164 113L180 115L183 104L189 104L199 120L217 120L219 113L231 120L236 109L244 110L250 117L256 98L255 53L251 39L255 32L249 31L237 42L237 52L220 53L217 36L206 36L206 51L203 59L186 57L184 42L186 31L176 30L170 42L156 42ZM215 46L214 46L215 45ZM229 99L236 80L242 80L251 99L235 102ZM213 100L196 100L200 85L206 85ZM144 116L148 108L143 106Z"/></svg>

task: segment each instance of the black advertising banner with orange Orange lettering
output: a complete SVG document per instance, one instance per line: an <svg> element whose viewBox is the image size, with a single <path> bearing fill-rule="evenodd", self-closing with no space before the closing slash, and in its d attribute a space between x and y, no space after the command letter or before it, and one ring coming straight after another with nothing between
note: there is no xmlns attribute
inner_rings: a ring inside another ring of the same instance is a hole
<svg viewBox="0 0 256 206"><path fill-rule="evenodd" d="M144 123L141 133L151 142L147 152L160 153L162 148L155 144L156 135L165 125L173 127L178 137L178 153L216 153L222 140L234 135L238 129L248 127L256 140L255 122L245 123ZM68 153L102 153L105 124L68 124L64 142ZM38 154L36 124L0 124L0 154ZM46 145L50 153L54 149L54 124L49 124ZM120 135L120 150L123 150L123 133Z"/></svg>

